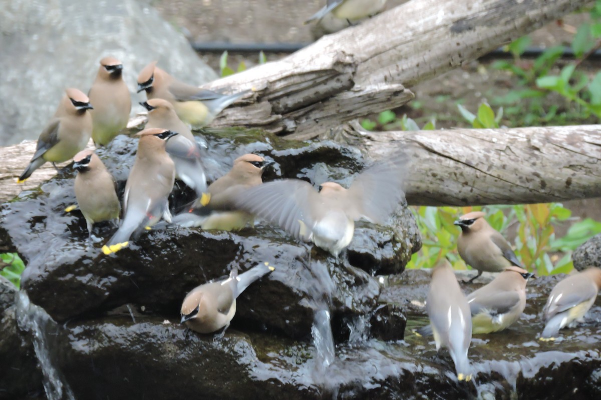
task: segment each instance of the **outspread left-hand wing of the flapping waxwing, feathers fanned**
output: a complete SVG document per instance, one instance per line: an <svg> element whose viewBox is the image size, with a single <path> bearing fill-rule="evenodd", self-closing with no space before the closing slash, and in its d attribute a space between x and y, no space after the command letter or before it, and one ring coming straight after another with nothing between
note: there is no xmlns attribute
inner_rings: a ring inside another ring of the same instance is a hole
<svg viewBox="0 0 601 400"><path fill-rule="evenodd" d="M236 198L236 206L279 225L297 239L308 240L311 228L319 219L317 207L310 204L319 201L319 194L308 182L284 179L243 191Z"/></svg>

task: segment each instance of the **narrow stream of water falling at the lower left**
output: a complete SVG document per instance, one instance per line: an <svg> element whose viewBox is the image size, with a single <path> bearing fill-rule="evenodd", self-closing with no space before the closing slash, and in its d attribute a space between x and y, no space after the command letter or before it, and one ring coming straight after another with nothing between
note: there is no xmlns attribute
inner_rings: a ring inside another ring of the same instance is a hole
<svg viewBox="0 0 601 400"><path fill-rule="evenodd" d="M23 290L17 294L16 306L19 328L31 334L35 355L44 375L46 397L48 400L75 400L69 384L53 365L50 356L52 339L49 335L58 332L58 325L43 308L31 303Z"/></svg>

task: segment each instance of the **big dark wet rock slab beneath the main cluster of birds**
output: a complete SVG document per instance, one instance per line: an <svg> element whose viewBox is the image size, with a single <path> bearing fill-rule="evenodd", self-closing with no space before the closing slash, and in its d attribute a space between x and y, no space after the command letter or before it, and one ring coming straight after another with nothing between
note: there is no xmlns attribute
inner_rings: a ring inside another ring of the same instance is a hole
<svg viewBox="0 0 601 400"><path fill-rule="evenodd" d="M349 175L362 166L357 151L332 142L292 143L252 131L236 131L235 136L230 132L207 134L207 140L213 178L246 152L263 154L279 164L267 174L266 181L300 176L312 182L332 179L348 184ZM133 163L135 145L134 139L118 137L99 151L121 181L121 190ZM189 196L189 191L175 191L172 212L191 200ZM239 233L157 229L107 257L100 252L102 243L87 243L81 215L63 212L74 200L72 175L67 173L0 207L0 240L19 252L28 265L23 287L32 302L56 320L100 315L126 303L143 307L148 313L174 317L185 294L198 284L228 275L234 265L246 270L268 261L276 266L275 272L242 294L236 318L256 329L272 328L295 338L309 335L313 305L308 293L314 277L307 267L307 246L278 228L258 224ZM400 210L400 215L392 228L371 225L369 234L365 233L367 228L356 231L349 251L352 267L313 249L311 260L325 263L337 287L332 297L335 317L365 314L376 306L379 284L356 267L372 272L402 270L410 252L418 248L419 236L398 237L404 232L415 233L410 213ZM99 227L98 234L103 237L111 233L109 225ZM369 263L359 262L354 256L358 252L376 257Z"/></svg>

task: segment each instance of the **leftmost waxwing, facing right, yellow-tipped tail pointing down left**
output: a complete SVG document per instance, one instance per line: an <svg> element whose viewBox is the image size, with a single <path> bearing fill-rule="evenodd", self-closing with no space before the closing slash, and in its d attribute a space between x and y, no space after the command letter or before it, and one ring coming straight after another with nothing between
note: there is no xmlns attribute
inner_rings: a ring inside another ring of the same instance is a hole
<svg viewBox="0 0 601 400"><path fill-rule="evenodd" d="M46 161L63 163L73 158L87 146L92 135L92 117L87 110L93 109L90 99L78 89L66 89L66 95L46 125L35 148L34 157L23 171L17 183L25 182Z"/></svg>

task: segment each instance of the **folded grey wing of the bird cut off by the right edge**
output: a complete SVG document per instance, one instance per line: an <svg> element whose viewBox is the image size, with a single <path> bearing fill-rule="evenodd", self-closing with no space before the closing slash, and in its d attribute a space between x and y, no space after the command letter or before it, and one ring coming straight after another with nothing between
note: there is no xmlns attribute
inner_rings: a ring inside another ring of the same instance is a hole
<svg viewBox="0 0 601 400"><path fill-rule="evenodd" d="M575 277L581 278L580 276ZM593 282L586 279L570 278L559 282L551 291L545 305L545 317L547 319L597 296L597 288Z"/></svg>

